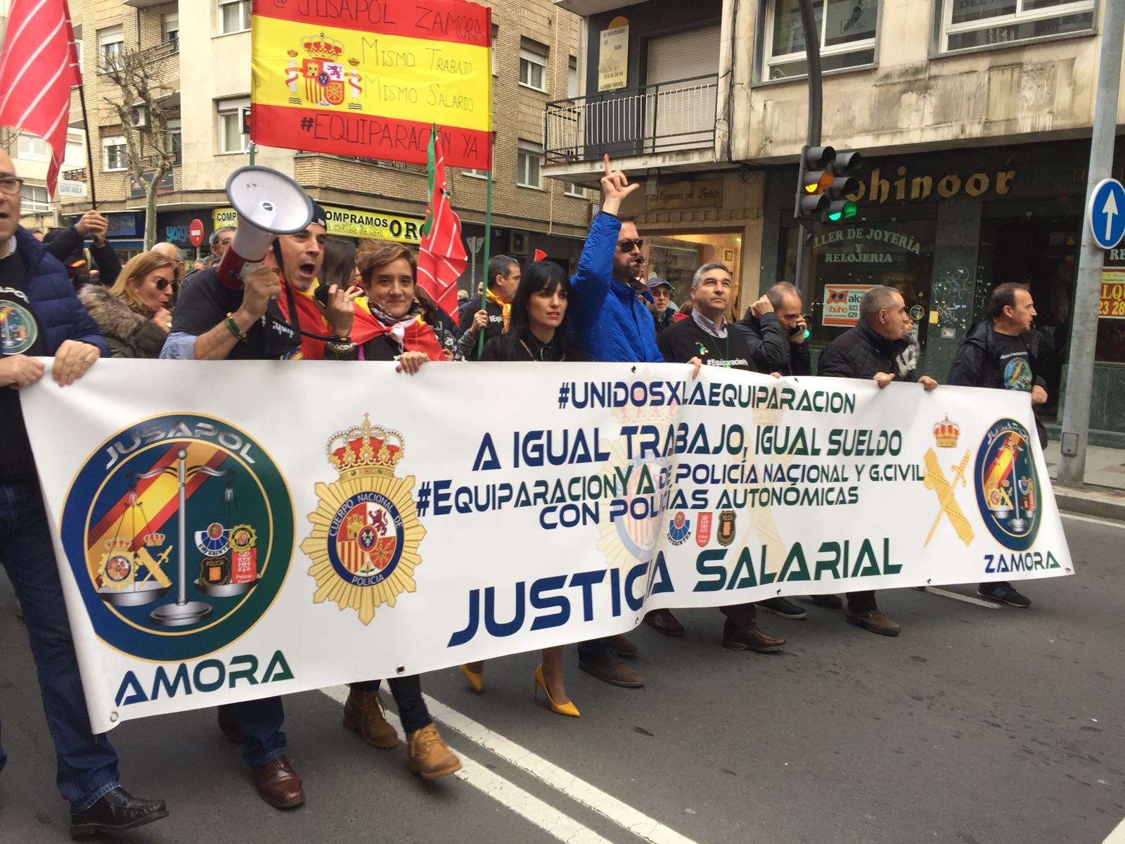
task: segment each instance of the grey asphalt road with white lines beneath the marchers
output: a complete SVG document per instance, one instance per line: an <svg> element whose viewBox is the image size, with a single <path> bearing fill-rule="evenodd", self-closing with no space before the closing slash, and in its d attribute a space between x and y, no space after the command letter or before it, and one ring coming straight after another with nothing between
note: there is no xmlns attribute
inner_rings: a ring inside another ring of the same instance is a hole
<svg viewBox="0 0 1125 844"><path fill-rule="evenodd" d="M1029 610L897 590L880 604L898 639L810 605L803 621L763 614L789 637L774 655L728 652L718 611L685 611L684 639L636 631L642 690L605 686L568 655L579 719L532 701L531 654L489 663L482 695L456 670L428 675L467 762L434 783L406 771L403 745L375 751L342 729L333 690L287 698L308 796L290 812L255 797L213 710L127 722L112 733L124 783L172 814L122 839L1102 842L1125 818L1125 526L1064 524L1077 576L1028 584ZM66 841L3 578L0 666L0 843Z"/></svg>

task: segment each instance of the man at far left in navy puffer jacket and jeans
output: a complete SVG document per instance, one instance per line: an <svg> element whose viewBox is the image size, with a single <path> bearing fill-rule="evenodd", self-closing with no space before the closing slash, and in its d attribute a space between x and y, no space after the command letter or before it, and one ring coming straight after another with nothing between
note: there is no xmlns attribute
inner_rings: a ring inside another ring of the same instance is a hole
<svg viewBox="0 0 1125 844"><path fill-rule="evenodd" d="M90 835L130 829L165 817L168 809L163 800L141 800L120 787L117 753L105 736L92 734L86 712L19 390L43 377L38 357L54 356L52 377L65 387L109 349L66 270L19 226L21 187L0 150L0 564L24 609L58 790L71 805L71 834ZM0 748L0 769L7 761Z"/></svg>

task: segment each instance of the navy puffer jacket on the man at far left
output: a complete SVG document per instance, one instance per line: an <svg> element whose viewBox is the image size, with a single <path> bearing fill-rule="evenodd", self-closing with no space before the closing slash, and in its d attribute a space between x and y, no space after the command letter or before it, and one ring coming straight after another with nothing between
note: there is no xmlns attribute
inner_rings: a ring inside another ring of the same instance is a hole
<svg viewBox="0 0 1125 844"><path fill-rule="evenodd" d="M106 339L74 295L66 269L22 226L16 228L16 254L24 261L24 289L43 331L47 354L54 354L65 340L78 340L97 345L101 357L108 357Z"/></svg>

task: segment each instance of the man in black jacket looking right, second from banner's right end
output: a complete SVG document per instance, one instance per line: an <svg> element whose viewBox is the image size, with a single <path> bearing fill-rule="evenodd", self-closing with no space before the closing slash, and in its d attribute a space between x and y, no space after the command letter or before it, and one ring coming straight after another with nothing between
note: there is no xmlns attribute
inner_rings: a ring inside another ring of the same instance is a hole
<svg viewBox="0 0 1125 844"><path fill-rule="evenodd" d="M822 352L817 375L836 378L872 378L882 389L898 378L918 383L927 390L937 381L915 376L910 348L914 321L902 295L893 287L872 287L860 302L860 321L836 338ZM898 636L899 625L880 611L874 590L847 593L845 620L864 630Z"/></svg>

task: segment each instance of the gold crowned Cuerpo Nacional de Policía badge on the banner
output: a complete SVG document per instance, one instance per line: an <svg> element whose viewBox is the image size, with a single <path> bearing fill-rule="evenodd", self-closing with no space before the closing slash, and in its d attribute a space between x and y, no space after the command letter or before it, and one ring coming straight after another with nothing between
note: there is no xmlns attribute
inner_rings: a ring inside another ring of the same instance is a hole
<svg viewBox="0 0 1125 844"><path fill-rule="evenodd" d="M328 440L328 463L340 473L332 484L317 484L320 505L309 513L313 530L300 549L313 560L313 600L330 600L359 612L364 625L377 607L394 607L415 589L425 536L414 506L414 476L395 476L405 455L403 437L362 424Z"/></svg>

